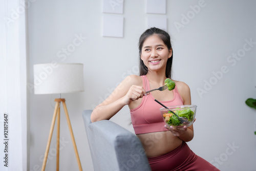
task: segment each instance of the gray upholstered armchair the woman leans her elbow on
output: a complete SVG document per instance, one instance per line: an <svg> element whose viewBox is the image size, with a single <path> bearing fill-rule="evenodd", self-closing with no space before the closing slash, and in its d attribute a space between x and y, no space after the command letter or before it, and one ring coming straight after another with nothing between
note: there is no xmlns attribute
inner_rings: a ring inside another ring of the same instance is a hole
<svg viewBox="0 0 256 171"><path fill-rule="evenodd" d="M94 170L151 170L136 135L110 120L92 123L91 113L92 110L83 111L82 117Z"/></svg>

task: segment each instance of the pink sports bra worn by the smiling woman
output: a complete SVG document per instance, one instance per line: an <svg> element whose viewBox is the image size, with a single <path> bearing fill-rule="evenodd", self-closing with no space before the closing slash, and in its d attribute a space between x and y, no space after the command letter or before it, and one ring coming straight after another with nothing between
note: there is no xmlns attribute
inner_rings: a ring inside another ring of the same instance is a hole
<svg viewBox="0 0 256 171"><path fill-rule="evenodd" d="M145 75L141 76L143 79L143 88L145 91L150 90L150 83ZM160 101L166 106L183 105L183 100L175 87L174 98L169 101ZM164 125L165 122L161 116L160 108L152 94L142 97L140 105L130 110L131 119L135 134L154 133L160 131L168 131Z"/></svg>

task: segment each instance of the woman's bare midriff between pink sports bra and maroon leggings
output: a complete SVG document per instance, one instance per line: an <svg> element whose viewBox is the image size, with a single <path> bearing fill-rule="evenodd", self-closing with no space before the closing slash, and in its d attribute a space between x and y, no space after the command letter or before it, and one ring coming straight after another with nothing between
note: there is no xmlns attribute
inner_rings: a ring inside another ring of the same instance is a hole
<svg viewBox="0 0 256 171"><path fill-rule="evenodd" d="M137 134L146 152L147 157L166 154L177 148L182 140L173 136L169 131Z"/></svg>

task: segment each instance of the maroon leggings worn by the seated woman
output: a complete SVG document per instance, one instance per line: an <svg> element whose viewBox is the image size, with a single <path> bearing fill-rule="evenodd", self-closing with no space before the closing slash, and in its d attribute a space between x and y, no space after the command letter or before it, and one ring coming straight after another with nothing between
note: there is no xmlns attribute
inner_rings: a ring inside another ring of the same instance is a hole
<svg viewBox="0 0 256 171"><path fill-rule="evenodd" d="M147 158L153 171L170 170L196 170L196 171L216 171L219 170L203 158L197 156L188 147L186 142L173 151L161 156Z"/></svg>

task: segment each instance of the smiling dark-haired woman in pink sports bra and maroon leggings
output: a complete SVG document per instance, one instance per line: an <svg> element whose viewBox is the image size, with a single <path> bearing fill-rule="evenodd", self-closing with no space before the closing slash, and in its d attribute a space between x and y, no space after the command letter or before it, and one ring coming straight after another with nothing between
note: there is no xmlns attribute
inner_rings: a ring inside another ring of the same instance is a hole
<svg viewBox="0 0 256 171"><path fill-rule="evenodd" d="M141 140L152 170L218 170L197 156L186 142L194 137L193 125L177 130L166 128L161 117L162 106L191 104L187 84L175 81L174 90L146 91L164 86L171 78L173 49L170 36L158 28L147 29L139 39L140 76L126 77L113 93L99 104L91 115L92 122L110 119L129 105L135 134Z"/></svg>

